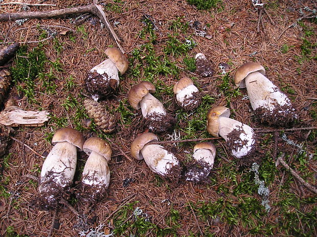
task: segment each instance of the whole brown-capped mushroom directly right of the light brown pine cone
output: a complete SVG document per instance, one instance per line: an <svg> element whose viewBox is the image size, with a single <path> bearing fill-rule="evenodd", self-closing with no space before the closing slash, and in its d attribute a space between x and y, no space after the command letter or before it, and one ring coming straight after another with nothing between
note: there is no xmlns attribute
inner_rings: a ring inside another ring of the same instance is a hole
<svg viewBox="0 0 317 237"><path fill-rule="evenodd" d="M155 87L152 83L141 82L131 88L128 100L133 109L141 108L145 126L150 131L166 131L174 126L176 120L166 112L163 104L151 95L154 92Z"/></svg>

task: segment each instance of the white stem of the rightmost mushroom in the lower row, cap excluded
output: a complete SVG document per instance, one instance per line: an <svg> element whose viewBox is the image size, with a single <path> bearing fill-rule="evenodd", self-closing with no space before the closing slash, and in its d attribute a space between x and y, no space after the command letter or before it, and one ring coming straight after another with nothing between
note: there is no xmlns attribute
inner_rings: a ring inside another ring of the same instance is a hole
<svg viewBox="0 0 317 237"><path fill-rule="evenodd" d="M236 147L232 148L233 156L241 158L252 151L252 149L255 147L256 141L254 130L250 126L227 117L219 117L218 121L219 135L224 138L225 141L232 139L228 138L228 135L233 130L241 131L239 138L234 141ZM245 141L245 144L242 145L242 141Z"/></svg>

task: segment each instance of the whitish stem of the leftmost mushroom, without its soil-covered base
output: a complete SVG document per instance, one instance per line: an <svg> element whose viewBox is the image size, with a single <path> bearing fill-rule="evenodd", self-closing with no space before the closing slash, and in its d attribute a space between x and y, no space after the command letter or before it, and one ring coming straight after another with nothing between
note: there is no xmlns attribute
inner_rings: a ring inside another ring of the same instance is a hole
<svg viewBox="0 0 317 237"><path fill-rule="evenodd" d="M50 151L43 163L41 170L41 183L53 178L53 181L61 188L69 185L74 178L77 147L69 142L58 142ZM48 172L53 172L48 175ZM43 187L39 187L40 192Z"/></svg>

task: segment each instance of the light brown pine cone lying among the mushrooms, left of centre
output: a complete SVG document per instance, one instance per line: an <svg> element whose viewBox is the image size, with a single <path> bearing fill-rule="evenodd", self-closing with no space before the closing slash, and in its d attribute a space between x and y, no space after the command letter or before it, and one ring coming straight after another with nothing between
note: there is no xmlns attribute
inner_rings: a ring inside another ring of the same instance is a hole
<svg viewBox="0 0 317 237"><path fill-rule="evenodd" d="M89 117L95 120L97 126L99 126L105 134L110 134L115 130L115 117L112 114L109 114L101 103L92 99L85 99L84 107Z"/></svg>

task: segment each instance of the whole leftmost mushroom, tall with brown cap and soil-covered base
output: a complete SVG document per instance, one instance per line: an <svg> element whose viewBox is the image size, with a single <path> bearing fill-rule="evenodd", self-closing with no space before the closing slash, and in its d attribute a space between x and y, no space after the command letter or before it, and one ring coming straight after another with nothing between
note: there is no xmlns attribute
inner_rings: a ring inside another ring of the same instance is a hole
<svg viewBox="0 0 317 237"><path fill-rule="evenodd" d="M55 206L73 182L77 150L82 151L82 134L70 127L60 128L52 139L55 145L43 163L38 191L45 204Z"/></svg>

